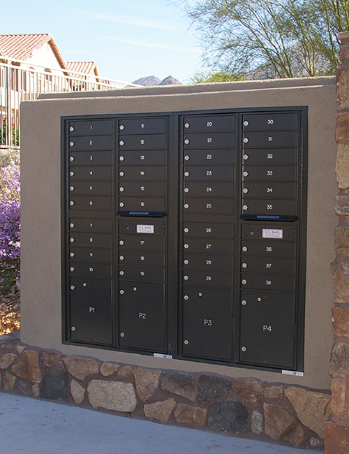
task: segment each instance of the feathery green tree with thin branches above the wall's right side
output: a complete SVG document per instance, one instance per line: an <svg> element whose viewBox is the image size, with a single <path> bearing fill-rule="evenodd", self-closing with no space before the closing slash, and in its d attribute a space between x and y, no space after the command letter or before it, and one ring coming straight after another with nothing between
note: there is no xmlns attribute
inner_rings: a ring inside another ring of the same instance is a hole
<svg viewBox="0 0 349 454"><path fill-rule="evenodd" d="M349 0L174 0L198 31L205 64L246 78L332 75Z"/></svg>

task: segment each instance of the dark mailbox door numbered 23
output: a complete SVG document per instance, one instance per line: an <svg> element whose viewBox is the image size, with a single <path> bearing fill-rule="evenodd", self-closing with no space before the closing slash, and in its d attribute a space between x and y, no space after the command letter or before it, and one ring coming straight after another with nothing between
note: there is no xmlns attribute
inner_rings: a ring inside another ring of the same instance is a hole
<svg viewBox="0 0 349 454"><path fill-rule="evenodd" d="M223 152L225 153L225 152ZM191 153L192 154L192 153ZM232 155L228 154L230 161ZM184 170L184 181L186 182L233 182L234 167L232 166L186 166Z"/></svg>

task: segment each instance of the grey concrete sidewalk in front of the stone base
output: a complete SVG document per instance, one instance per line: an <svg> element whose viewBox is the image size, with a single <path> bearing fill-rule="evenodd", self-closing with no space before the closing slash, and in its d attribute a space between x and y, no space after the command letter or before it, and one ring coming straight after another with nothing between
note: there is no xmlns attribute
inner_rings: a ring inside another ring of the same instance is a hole
<svg viewBox="0 0 349 454"><path fill-rule="evenodd" d="M321 454L0 393L6 454Z"/></svg>

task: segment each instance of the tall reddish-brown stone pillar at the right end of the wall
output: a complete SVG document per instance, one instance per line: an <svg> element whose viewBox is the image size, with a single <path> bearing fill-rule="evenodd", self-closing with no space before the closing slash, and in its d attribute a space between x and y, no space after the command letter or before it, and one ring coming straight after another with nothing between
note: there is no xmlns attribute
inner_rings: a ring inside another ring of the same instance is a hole
<svg viewBox="0 0 349 454"><path fill-rule="evenodd" d="M334 209L339 216L335 230L336 258L331 264L334 288L332 328L334 345L329 364L332 377L331 416L325 423L325 453L349 453L349 32L339 34L337 68L336 177L339 194Z"/></svg>

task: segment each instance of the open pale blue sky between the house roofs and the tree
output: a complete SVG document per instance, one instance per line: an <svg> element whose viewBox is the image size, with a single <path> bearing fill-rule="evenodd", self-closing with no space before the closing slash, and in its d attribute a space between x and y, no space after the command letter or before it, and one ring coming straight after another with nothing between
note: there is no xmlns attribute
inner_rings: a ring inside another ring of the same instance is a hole
<svg viewBox="0 0 349 454"><path fill-rule="evenodd" d="M201 47L170 0L0 0L1 34L50 33L65 60L94 60L105 78L132 82L202 69Z"/></svg>

